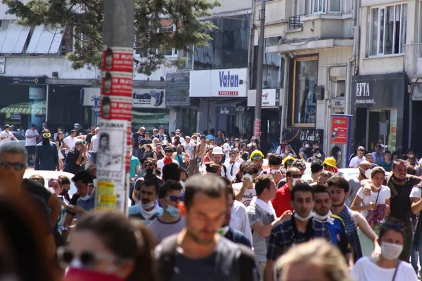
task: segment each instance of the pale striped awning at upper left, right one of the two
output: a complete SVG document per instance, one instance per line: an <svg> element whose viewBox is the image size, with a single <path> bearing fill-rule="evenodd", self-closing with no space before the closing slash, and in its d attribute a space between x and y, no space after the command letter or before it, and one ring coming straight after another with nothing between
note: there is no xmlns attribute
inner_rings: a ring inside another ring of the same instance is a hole
<svg viewBox="0 0 422 281"><path fill-rule="evenodd" d="M38 25L28 44L27 53L58 53L63 39L63 29Z"/></svg>

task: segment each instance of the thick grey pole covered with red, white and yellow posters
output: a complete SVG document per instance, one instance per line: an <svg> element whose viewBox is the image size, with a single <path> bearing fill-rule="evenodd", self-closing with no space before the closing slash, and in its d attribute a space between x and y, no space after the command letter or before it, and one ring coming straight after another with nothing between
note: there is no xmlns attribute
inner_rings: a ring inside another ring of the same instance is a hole
<svg viewBox="0 0 422 281"><path fill-rule="evenodd" d="M127 214L132 131L134 0L104 0L96 209Z"/></svg>

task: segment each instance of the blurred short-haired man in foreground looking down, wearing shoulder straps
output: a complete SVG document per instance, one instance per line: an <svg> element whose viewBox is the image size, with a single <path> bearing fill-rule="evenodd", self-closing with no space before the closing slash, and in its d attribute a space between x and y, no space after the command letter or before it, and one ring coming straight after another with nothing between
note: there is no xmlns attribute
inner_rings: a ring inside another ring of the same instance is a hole
<svg viewBox="0 0 422 281"><path fill-rule="evenodd" d="M254 280L252 250L218 234L226 216L226 184L217 176L186 182L186 227L158 245L160 280Z"/></svg>

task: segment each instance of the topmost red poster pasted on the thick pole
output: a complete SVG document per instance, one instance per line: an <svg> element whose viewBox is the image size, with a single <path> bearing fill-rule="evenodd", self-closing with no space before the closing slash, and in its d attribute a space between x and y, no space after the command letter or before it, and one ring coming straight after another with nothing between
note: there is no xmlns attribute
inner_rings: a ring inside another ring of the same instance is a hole
<svg viewBox="0 0 422 281"><path fill-rule="evenodd" d="M102 69L108 72L134 71L134 51L132 48L107 47L103 48Z"/></svg>

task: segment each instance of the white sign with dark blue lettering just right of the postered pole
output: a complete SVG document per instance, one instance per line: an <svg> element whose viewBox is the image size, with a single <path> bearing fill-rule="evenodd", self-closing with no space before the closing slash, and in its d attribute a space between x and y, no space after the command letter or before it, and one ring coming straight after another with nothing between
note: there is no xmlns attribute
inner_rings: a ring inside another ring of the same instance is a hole
<svg viewBox="0 0 422 281"><path fill-rule="evenodd" d="M134 89L133 104L138 108L165 108L165 90Z"/></svg>

